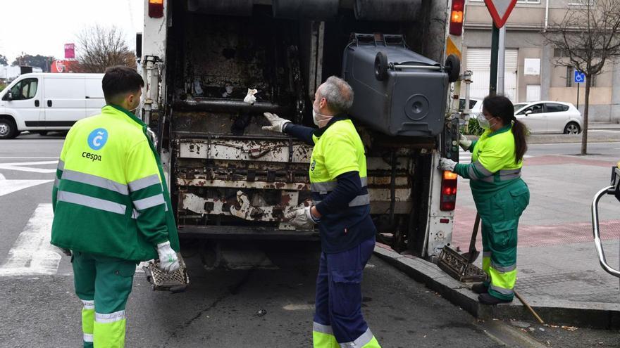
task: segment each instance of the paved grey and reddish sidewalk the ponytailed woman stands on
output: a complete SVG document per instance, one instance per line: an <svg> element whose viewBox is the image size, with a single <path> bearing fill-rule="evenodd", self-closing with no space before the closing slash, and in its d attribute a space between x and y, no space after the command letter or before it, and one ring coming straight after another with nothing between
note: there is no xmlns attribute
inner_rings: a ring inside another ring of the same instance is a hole
<svg viewBox="0 0 620 348"><path fill-rule="evenodd" d="M612 162L578 156L531 157L523 179L531 191L530 205L519 222L516 290L543 320L571 326L620 328L620 280L602 270L593 243L590 204L609 182ZM459 178L452 247L469 249L476 210L469 182ZM600 201L600 228L607 262L620 263L620 202ZM478 234L477 249L482 250ZM388 254L380 250L383 254ZM421 259L395 258L404 271L424 281L452 302L483 318L533 321L518 299L510 305L487 307L464 283L454 281L436 265ZM476 260L481 267L482 257Z"/></svg>

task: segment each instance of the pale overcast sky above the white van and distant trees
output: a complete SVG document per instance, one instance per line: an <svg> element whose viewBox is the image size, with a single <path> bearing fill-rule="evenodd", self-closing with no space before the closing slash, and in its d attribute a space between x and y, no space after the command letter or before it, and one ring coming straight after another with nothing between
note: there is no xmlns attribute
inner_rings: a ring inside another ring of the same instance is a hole
<svg viewBox="0 0 620 348"><path fill-rule="evenodd" d="M135 49L143 13L144 0L0 0L0 54L9 64L22 52L63 59L64 44L78 51L75 34L95 24L116 25Z"/></svg>

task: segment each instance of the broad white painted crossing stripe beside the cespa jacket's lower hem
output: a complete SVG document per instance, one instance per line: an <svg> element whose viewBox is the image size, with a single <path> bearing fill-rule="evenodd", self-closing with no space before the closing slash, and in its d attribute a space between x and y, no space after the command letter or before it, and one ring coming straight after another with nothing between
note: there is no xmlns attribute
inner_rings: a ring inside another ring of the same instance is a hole
<svg viewBox="0 0 620 348"><path fill-rule="evenodd" d="M0 267L0 276L56 274L61 255L49 244L53 217L51 204L39 204L15 245L8 251L8 259Z"/></svg>

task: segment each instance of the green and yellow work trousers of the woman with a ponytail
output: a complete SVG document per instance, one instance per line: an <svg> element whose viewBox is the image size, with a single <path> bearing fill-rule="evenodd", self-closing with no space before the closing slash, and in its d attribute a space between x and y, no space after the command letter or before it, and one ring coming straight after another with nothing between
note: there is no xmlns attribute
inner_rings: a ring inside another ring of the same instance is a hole
<svg viewBox="0 0 620 348"><path fill-rule="evenodd" d="M512 300L516 283L516 243L519 217L530 202L523 180L502 188L491 198L476 201L482 221L483 271L489 295Z"/></svg>

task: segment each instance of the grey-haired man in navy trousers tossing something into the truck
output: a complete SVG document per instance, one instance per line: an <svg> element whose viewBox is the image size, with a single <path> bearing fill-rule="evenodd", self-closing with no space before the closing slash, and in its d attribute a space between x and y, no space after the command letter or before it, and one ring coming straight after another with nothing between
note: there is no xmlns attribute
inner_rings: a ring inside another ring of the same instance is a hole
<svg viewBox="0 0 620 348"><path fill-rule="evenodd" d="M285 215L290 224L312 229L319 224L321 263L316 279L314 347L380 347L361 314L361 278L375 247L370 217L366 156L359 134L347 117L353 90L330 77L314 95L312 118L318 129L292 124L265 112L279 131L314 146L310 184L314 204Z"/></svg>

